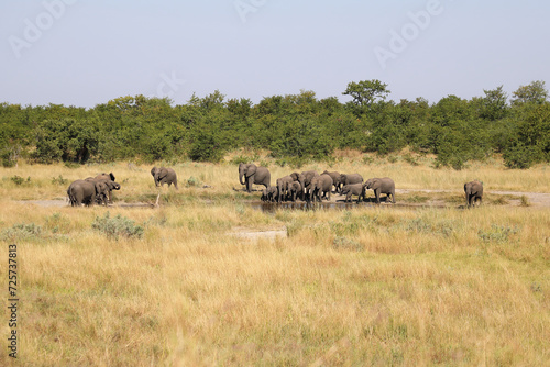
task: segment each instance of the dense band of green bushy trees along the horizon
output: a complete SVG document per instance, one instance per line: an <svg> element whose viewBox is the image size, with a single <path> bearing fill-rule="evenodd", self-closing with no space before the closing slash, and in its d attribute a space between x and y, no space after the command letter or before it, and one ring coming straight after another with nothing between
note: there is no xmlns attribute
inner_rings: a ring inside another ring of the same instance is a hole
<svg viewBox="0 0 550 367"><path fill-rule="evenodd" d="M218 90L186 104L168 98L121 97L95 108L0 103L0 157L36 163L136 159L219 162L238 148L265 149L280 162L330 159L336 149L387 155L409 147L435 154L437 166L502 154L509 168L550 162L550 102L543 81L503 87L471 100L387 100L380 80L350 82L337 97L314 91L226 99Z"/></svg>

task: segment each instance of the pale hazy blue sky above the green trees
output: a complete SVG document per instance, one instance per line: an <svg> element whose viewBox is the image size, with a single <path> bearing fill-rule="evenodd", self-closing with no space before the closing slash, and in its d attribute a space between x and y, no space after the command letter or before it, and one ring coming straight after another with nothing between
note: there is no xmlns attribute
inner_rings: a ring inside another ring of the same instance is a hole
<svg viewBox="0 0 550 367"><path fill-rule="evenodd" d="M550 84L542 0L41 0L0 3L0 102L95 107L342 96L380 79L391 99L512 94Z"/></svg>

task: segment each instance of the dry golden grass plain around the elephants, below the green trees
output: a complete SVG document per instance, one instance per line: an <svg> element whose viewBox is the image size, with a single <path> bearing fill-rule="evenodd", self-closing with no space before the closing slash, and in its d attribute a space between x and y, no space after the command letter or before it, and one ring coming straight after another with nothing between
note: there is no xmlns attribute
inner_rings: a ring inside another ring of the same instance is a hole
<svg viewBox="0 0 550 367"><path fill-rule="evenodd" d="M273 184L306 169L388 176L397 204L261 210L234 157L157 163L176 170L178 191L155 188L153 165L0 168L0 365L549 365L550 203L529 199L550 192L548 165L262 160ZM122 186L113 205L68 207L68 185L102 171ZM465 209L473 179L484 201Z"/></svg>

